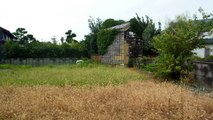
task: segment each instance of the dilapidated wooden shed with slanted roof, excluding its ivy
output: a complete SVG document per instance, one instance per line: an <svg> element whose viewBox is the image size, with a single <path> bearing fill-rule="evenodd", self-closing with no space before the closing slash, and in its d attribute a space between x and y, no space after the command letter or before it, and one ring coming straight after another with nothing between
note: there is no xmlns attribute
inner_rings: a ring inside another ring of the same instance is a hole
<svg viewBox="0 0 213 120"><path fill-rule="evenodd" d="M124 23L108 29L119 30L114 41L108 46L106 54L101 56L101 63L127 65L133 52L142 54L142 48L134 49L136 45L141 46L142 41L130 30L130 23Z"/></svg>

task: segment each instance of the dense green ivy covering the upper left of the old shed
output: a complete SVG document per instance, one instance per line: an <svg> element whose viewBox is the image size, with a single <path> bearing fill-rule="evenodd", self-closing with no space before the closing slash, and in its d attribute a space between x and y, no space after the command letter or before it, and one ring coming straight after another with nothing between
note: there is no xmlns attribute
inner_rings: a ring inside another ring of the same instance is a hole
<svg viewBox="0 0 213 120"><path fill-rule="evenodd" d="M103 55L107 52L107 48L112 44L118 31L115 29L103 29L98 33L98 53Z"/></svg>

